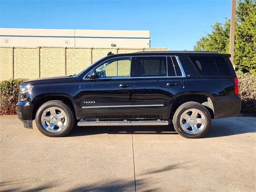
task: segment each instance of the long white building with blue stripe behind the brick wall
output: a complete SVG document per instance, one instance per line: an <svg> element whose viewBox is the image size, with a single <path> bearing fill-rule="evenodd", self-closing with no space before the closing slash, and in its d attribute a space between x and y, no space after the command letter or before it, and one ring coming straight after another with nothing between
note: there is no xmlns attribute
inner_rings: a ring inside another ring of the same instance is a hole
<svg viewBox="0 0 256 192"><path fill-rule="evenodd" d="M0 28L0 46L149 48L149 30Z"/></svg>

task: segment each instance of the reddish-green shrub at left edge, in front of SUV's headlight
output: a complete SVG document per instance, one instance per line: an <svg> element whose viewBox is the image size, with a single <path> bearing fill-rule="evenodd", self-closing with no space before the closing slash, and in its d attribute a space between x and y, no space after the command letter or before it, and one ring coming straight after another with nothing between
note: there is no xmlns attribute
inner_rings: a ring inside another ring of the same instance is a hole
<svg viewBox="0 0 256 192"><path fill-rule="evenodd" d="M0 115L15 115L19 86L26 79L10 79L0 82Z"/></svg>

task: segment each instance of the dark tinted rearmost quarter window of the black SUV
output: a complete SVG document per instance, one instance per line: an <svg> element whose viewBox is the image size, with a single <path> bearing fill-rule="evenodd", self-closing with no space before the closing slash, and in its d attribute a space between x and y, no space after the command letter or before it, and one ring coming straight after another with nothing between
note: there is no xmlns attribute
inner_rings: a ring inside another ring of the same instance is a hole
<svg viewBox="0 0 256 192"><path fill-rule="evenodd" d="M201 76L231 76L224 57L189 57Z"/></svg>

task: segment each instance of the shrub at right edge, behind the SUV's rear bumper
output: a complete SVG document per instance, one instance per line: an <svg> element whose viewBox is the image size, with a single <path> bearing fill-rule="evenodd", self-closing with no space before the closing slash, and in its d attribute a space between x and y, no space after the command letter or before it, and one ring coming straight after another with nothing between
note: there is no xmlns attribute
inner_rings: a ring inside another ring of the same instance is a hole
<svg viewBox="0 0 256 192"><path fill-rule="evenodd" d="M256 73L237 73L239 96L242 98L241 113L256 114Z"/></svg>

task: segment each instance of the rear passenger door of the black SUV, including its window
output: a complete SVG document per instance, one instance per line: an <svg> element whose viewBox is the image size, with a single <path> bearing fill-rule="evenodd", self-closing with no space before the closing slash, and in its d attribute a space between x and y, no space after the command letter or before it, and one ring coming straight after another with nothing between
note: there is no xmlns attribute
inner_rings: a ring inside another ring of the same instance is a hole
<svg viewBox="0 0 256 192"><path fill-rule="evenodd" d="M174 95L183 92L184 75L176 56L136 57L136 117L169 118Z"/></svg>

